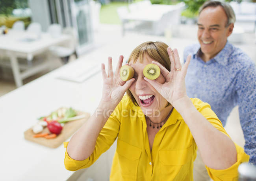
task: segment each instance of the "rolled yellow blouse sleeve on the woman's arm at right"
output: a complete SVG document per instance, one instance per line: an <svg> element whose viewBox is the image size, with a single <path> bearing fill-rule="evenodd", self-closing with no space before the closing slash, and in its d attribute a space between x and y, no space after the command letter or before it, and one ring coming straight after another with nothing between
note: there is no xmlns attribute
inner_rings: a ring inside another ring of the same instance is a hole
<svg viewBox="0 0 256 181"><path fill-rule="evenodd" d="M198 110L216 129L221 131L223 134L227 135L229 138L230 136L226 133L224 127L222 126L221 121L217 117L217 115L211 110L211 107L208 103L204 103L202 106L200 106ZM229 168L226 168L224 170L215 170L212 168L209 168L205 165L206 170L214 181L233 181L238 179L238 166L239 164L243 162L249 161L249 155L247 155L243 148L238 146L236 143L234 143L236 146L237 151L237 161Z"/></svg>

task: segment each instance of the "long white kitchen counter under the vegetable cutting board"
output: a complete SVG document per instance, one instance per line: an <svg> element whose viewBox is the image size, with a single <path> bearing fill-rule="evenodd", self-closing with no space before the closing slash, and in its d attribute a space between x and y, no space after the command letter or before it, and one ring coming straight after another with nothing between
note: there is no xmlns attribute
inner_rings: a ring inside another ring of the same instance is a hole
<svg viewBox="0 0 256 181"><path fill-rule="evenodd" d="M165 39L164 37L134 35L120 38L117 41L113 40L111 44L0 97L0 136L2 138L0 180L67 180L74 172L64 167L65 149L63 146L52 149L35 144L24 139L24 131L37 122L36 118L61 106L92 114L102 95L101 74L96 74L83 83L65 81L56 77L63 74L63 71L67 74L69 71L75 71L67 70L74 64L77 67L86 66L90 62L96 62L99 66L102 62L106 64L108 56L113 57L113 67L115 67L120 54L124 55L125 60L128 59L130 52L145 41L165 41ZM173 39L171 45L172 47L175 45L179 52L182 52L187 44L193 42ZM111 158L109 159L109 164L111 164ZM100 168L102 169L104 168ZM108 180L108 177L104 179Z"/></svg>

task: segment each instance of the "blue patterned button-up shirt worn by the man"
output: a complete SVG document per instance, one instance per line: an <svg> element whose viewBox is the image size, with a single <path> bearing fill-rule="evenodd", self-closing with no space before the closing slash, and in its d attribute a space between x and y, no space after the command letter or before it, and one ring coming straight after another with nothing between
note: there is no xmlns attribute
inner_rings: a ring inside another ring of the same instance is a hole
<svg viewBox="0 0 256 181"><path fill-rule="evenodd" d="M204 62L200 44L185 48L184 59L191 54L186 75L186 91L211 105L226 124L232 109L239 106L239 118L245 137L245 152L256 164L256 66L248 55L228 41L210 61Z"/></svg>

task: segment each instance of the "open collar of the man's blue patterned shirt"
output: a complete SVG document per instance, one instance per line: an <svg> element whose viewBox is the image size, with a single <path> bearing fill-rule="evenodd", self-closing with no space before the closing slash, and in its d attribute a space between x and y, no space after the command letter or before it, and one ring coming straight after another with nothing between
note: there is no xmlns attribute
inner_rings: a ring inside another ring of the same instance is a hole
<svg viewBox="0 0 256 181"><path fill-rule="evenodd" d="M212 59L217 61L217 63L225 66L228 64L228 57L230 57L230 54L232 53L232 44L230 42L226 42L226 45L224 46L224 48ZM201 48L200 46L198 48L195 49L195 51L193 52L193 57L200 57L200 52L201 52Z"/></svg>

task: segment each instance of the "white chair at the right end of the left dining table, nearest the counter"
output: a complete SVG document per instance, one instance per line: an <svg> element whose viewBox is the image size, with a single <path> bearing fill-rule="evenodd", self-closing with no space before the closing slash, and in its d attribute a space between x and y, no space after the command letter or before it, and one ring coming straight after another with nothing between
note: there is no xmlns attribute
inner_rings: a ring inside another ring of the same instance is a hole
<svg viewBox="0 0 256 181"><path fill-rule="evenodd" d="M78 58L76 53L78 34L77 31L72 27L65 28L63 33L72 37L69 44L65 44L66 46L51 46L50 52L52 55L61 58L63 63L68 63L70 55L74 54L76 58Z"/></svg>

